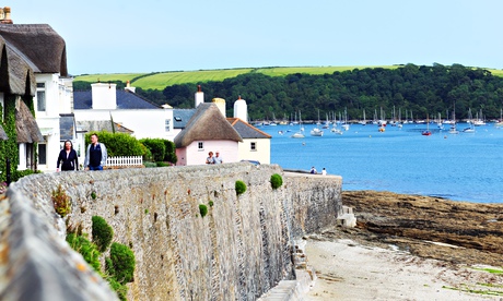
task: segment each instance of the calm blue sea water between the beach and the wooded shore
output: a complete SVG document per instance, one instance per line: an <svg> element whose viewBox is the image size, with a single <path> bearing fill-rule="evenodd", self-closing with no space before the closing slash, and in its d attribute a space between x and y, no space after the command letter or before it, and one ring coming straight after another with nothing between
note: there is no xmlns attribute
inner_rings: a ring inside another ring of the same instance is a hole
<svg viewBox="0 0 503 301"><path fill-rule="evenodd" d="M466 124L458 124L464 129ZM342 135L324 130L311 136L314 124L304 124L305 137L292 139L299 125L261 127L272 135L271 164L285 169L318 171L342 177L342 189L377 190L434 195L475 203L503 203L503 129L477 127L476 133L449 134L430 124L403 128L351 124ZM445 125L448 129L448 125ZM280 134L283 131L284 134Z"/></svg>

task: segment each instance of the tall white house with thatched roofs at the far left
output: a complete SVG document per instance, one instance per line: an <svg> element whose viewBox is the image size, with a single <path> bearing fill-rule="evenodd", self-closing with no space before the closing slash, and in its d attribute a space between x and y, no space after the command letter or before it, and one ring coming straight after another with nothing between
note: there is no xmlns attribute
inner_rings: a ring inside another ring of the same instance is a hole
<svg viewBox="0 0 503 301"><path fill-rule="evenodd" d="M5 20L7 14L3 17L0 100L3 107L4 99L15 98L17 170L55 170L60 149L59 113L71 107L72 79L68 77L65 40L47 24L13 24ZM33 104L35 122L25 104Z"/></svg>

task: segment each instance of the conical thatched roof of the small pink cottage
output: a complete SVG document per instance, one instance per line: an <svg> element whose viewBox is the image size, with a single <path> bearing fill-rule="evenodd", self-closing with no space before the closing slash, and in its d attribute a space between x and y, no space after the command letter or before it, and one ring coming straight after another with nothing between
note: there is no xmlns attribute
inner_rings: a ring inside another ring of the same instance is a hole
<svg viewBox="0 0 503 301"><path fill-rule="evenodd" d="M243 141L217 105L202 103L187 122L187 127L176 135L175 145L186 147L194 141L210 140Z"/></svg>

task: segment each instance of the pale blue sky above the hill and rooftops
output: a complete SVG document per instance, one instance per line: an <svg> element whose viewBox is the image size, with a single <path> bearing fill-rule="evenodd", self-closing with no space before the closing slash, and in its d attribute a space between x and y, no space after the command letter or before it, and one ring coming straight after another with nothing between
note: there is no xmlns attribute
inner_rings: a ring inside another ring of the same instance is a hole
<svg viewBox="0 0 503 301"><path fill-rule="evenodd" d="M414 63L503 69L501 0L11 0L70 74Z"/></svg>

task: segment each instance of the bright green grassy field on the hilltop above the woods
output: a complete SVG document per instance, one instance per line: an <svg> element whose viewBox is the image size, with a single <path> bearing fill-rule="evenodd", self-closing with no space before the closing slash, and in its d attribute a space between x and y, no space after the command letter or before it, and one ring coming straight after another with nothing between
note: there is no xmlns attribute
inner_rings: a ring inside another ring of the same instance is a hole
<svg viewBox="0 0 503 301"><path fill-rule="evenodd" d="M171 71L159 73L112 73L112 74L85 74L75 77L75 81L85 82L108 82L108 81L131 81L131 85L143 89L163 89L166 86L186 83L206 83L209 81L223 81L239 74L249 72L262 73L269 76L285 76L294 73L307 74L331 74L335 71L347 71L365 68L397 69L400 65L350 65L350 67L271 67L271 68L241 68L221 70L199 70L199 71ZM496 76L503 76L503 70L488 69ZM142 76L140 79L137 79ZM137 80L134 80L137 79Z"/></svg>

